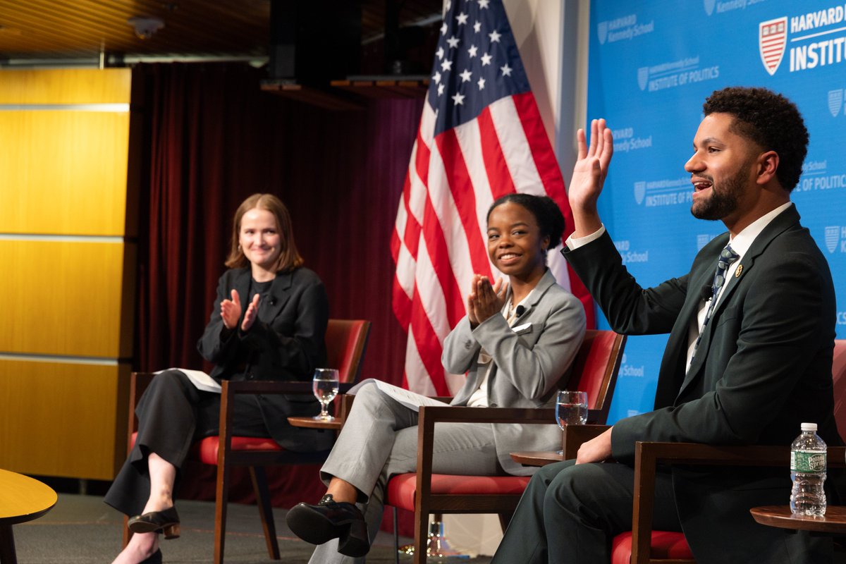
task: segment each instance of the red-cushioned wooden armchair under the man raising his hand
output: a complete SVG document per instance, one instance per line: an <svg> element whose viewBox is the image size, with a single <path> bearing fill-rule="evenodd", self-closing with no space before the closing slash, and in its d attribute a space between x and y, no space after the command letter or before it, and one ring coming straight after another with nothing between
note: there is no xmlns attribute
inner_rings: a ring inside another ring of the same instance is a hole
<svg viewBox="0 0 846 564"><path fill-rule="evenodd" d="M846 430L846 340L834 343L832 378L835 419ZM840 391L840 392L838 392ZM582 442L607 430L607 425L573 425L564 434L564 458L574 458ZM797 430L797 434L799 430ZM828 447L828 468L846 467L846 447ZM613 564L695 564L684 534L653 531L656 468L660 465L718 465L789 468L790 446L711 446L698 443L638 442L634 453L632 530L612 543ZM787 492L785 492L785 500ZM785 501L786 503L786 501Z"/></svg>

